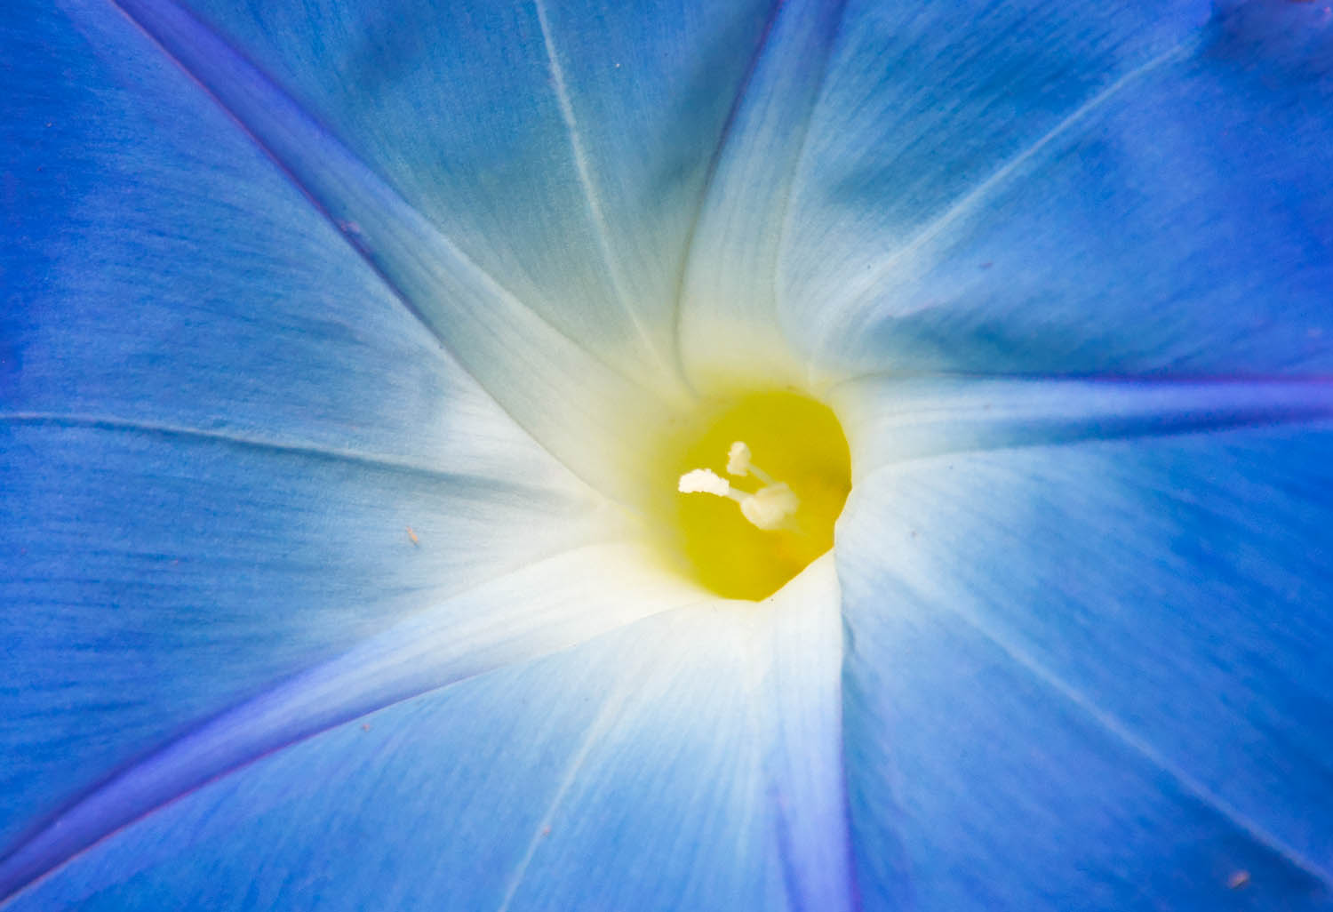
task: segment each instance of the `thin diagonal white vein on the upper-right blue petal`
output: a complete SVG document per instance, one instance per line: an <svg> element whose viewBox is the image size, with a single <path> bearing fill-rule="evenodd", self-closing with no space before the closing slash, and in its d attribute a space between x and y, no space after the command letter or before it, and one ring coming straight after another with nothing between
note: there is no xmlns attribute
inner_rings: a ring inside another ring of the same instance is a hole
<svg viewBox="0 0 1333 912"><path fill-rule="evenodd" d="M1058 140L1061 136L1068 133L1070 129L1077 127L1080 123L1086 120L1090 115L1096 113L1098 108L1105 105L1113 97L1120 95L1124 89L1132 87L1134 83L1142 80L1144 77L1152 75L1164 64L1173 60L1178 60L1185 56L1196 47L1198 47L1200 36L1193 36L1181 41L1173 48L1169 48L1154 57L1145 60L1129 72L1124 73L1116 79L1110 85L1104 88L1101 92L1096 93L1074 111L1066 115L1058 124L1052 127L1044 135L1037 137L1034 143L1024 148L1021 152L1010 157L1002 165L996 168L996 171L982 180L980 184L973 187L965 195L962 195L957 201L953 203L944 212L932 219L924 228L921 228L916 235L913 235L905 244L896 247L886 252L884 259L878 263L868 265L865 269L857 269L856 275L850 275L846 283L836 289L837 296L828 301L826 309L830 313L853 313L858 319L864 320L866 313L866 305L870 299L878 292L878 289L888 281L894 269L902 260L917 253L922 247L940 237L950 225L957 223L960 219L977 211L977 208L985 203L985 200L1001 189L1006 181L1017 176L1018 172L1026 165L1033 157L1036 157L1042 149L1049 147L1052 143ZM817 384L818 377L814 376L817 365L825 359L825 349L830 344L834 336L834 331L840 327L830 321L824 323L821 332L816 335L813 344L810 345L810 359L809 371L810 376L808 381L810 384ZM840 333L841 335L841 333Z"/></svg>

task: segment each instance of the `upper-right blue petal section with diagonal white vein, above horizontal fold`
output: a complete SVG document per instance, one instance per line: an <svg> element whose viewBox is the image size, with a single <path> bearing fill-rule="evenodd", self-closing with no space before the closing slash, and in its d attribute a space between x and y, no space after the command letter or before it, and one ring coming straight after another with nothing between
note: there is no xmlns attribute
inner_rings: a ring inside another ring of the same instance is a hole
<svg viewBox="0 0 1333 912"><path fill-rule="evenodd" d="M1325 4L865 8L782 256L825 369L1333 369Z"/></svg>

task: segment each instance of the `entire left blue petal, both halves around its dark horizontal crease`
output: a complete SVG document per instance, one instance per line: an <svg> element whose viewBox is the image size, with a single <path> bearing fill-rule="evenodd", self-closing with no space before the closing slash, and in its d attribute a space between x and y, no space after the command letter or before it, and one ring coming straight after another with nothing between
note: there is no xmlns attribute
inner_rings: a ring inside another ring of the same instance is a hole
<svg viewBox="0 0 1333 912"><path fill-rule="evenodd" d="M3 25L0 852L593 503L121 13Z"/></svg>

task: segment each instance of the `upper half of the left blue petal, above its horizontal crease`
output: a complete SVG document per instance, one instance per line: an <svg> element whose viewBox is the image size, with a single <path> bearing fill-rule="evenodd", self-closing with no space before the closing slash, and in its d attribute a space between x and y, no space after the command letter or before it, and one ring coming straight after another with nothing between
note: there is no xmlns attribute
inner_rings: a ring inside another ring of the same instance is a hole
<svg viewBox="0 0 1333 912"><path fill-rule="evenodd" d="M559 476L121 13L8 12L0 411Z"/></svg>

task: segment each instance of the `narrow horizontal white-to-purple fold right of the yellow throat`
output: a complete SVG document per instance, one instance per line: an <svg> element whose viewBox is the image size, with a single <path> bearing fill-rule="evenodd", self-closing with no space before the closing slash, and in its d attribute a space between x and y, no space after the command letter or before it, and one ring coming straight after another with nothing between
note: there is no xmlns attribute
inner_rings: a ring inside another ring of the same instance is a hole
<svg viewBox="0 0 1333 912"><path fill-rule="evenodd" d="M857 484L949 453L1333 419L1333 377L868 377L829 391Z"/></svg>

